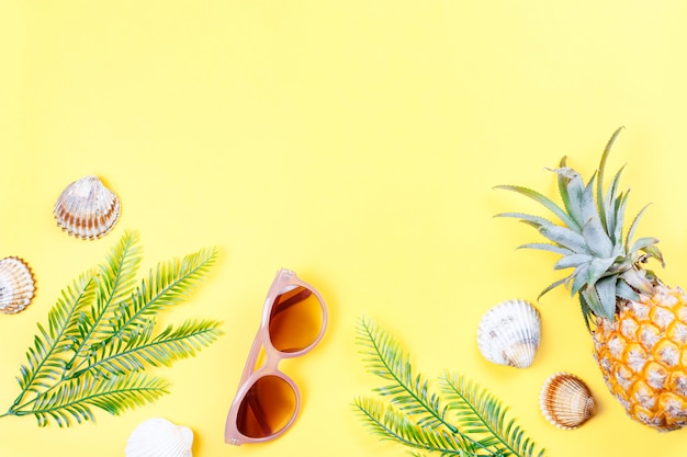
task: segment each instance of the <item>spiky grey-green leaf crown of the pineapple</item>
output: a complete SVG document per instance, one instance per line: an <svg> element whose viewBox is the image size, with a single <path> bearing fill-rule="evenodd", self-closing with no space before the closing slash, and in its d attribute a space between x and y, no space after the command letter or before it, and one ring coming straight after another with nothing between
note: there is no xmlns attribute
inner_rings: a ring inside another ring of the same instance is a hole
<svg viewBox="0 0 687 457"><path fill-rule="evenodd" d="M545 195L527 187L498 185L495 188L525 195L549 209L562 225L543 217L522 213L502 213L496 217L511 217L534 227L548 242L527 243L520 248L538 249L560 254L554 270L572 269L573 272L547 288L565 285L571 295L578 295L585 323L589 328L593 316L613 320L618 299L637 300L640 293L649 293L653 273L642 267L650 258L663 264L663 255L655 238L639 238L634 232L646 210L644 206L632 220L623 236L626 209L630 191L619 190L624 167L616 173L606 192L604 178L606 161L622 127L610 137L604 149L597 171L585 184L582 175L567 167L563 157L559 168L551 170L558 175L559 193L563 205L559 206Z"/></svg>

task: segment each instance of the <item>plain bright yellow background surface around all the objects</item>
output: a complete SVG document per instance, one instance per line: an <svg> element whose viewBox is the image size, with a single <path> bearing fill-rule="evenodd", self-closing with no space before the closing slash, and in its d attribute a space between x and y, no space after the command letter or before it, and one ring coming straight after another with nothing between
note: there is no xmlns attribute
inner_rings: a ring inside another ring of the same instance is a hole
<svg viewBox="0 0 687 457"><path fill-rule="evenodd" d="M530 228L494 219L539 212L496 184L555 196L560 157L586 176L610 134L629 162L630 208L654 205L640 235L661 238L669 284L687 278L687 137L682 1L19 1L0 3L0 256L26 259L38 293L0 316L0 409L16 396L36 322L61 288L101 262L125 229L156 262L216 245L192 300L164 322L224 321L195 358L156 370L155 404L97 423L38 429L0 419L2 456L122 456L142 421L164 416L216 456L392 456L353 414L380 380L354 344L367 315L430 377L468 375L510 407L548 455L678 455L684 431L626 418L604 386L575 300L538 304L543 340L525 370L486 362L481 316L534 300L553 255L517 251ZM98 174L123 202L115 230L86 242L53 205ZM330 327L281 368L301 386L295 426L267 445L223 443L262 301L280 267L328 301ZM576 431L545 422L538 393L554 372L583 377L598 414Z"/></svg>

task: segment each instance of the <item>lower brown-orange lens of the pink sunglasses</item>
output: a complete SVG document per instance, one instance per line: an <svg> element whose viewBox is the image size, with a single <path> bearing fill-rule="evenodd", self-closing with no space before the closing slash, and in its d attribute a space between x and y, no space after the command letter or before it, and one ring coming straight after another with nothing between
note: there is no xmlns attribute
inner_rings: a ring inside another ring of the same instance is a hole
<svg viewBox="0 0 687 457"><path fill-rule="evenodd" d="M264 376L252 385L238 409L238 431L251 438L266 438L280 432L296 409L296 393L278 376Z"/></svg>

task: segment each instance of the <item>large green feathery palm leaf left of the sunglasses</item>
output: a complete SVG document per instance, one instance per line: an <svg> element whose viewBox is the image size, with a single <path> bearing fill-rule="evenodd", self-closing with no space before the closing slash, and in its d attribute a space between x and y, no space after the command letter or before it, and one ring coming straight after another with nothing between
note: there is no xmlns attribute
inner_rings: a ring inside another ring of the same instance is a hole
<svg viewBox="0 0 687 457"><path fill-rule="evenodd" d="M156 317L188 298L214 263L204 249L159 263L136 285L138 236L127 231L103 264L67 286L48 312L20 367L21 393L7 413L40 425L69 426L153 402L168 382L143 373L194 356L222 335L221 322L190 319L157 333Z"/></svg>

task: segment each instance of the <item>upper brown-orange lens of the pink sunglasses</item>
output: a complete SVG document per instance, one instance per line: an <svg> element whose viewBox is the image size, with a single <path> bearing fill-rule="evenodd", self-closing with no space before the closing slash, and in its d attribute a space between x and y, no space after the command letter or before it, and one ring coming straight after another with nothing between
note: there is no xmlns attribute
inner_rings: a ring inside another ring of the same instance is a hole
<svg viewBox="0 0 687 457"><path fill-rule="evenodd" d="M282 292L270 315L270 341L281 352L297 352L315 342L324 324L323 308L312 290Z"/></svg>

